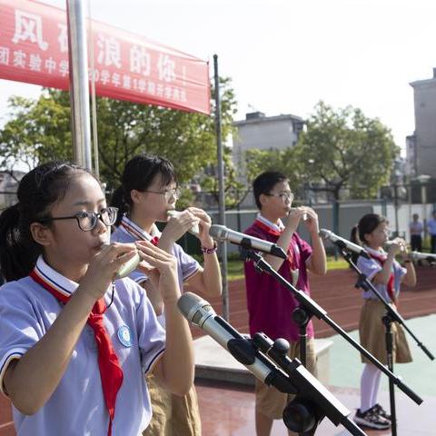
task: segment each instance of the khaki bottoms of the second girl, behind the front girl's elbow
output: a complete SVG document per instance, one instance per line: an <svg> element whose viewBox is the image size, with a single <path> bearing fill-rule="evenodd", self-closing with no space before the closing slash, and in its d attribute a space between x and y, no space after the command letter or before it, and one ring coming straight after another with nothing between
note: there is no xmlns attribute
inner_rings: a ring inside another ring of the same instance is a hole
<svg viewBox="0 0 436 436"><path fill-rule="evenodd" d="M195 388L184 397L165 391L154 374L146 377L152 402L152 421L143 436L201 436L202 424Z"/></svg>

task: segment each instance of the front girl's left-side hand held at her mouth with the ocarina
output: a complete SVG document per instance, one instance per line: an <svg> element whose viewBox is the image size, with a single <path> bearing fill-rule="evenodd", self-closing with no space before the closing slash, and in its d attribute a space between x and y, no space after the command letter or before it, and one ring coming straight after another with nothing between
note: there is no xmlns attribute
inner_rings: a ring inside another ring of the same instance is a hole
<svg viewBox="0 0 436 436"><path fill-rule="evenodd" d="M104 296L107 288L114 281L118 270L134 257L134 243L110 243L103 245L102 251L94 256L80 281L78 292L86 292L95 301Z"/></svg>

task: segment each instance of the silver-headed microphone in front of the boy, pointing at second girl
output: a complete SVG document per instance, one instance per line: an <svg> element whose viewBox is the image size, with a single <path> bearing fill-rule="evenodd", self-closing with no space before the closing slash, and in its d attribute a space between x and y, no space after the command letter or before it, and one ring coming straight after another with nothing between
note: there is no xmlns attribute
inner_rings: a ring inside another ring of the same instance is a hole
<svg viewBox="0 0 436 436"><path fill-rule="evenodd" d="M268 243L267 241L263 241L263 239L255 238L249 234L235 232L225 227L225 225L211 225L209 234L217 241L235 243L245 249L254 249L259 252L269 253L282 259L287 259L288 257L284 250L276 243Z"/></svg>

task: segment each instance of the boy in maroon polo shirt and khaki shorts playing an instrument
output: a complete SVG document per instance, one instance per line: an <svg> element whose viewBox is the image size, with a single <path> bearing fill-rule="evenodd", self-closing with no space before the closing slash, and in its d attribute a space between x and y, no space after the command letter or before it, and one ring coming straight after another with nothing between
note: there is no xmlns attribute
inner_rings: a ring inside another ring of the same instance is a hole
<svg viewBox="0 0 436 436"><path fill-rule="evenodd" d="M253 193L260 213L244 233L282 247L288 253L286 260L268 254L265 261L297 289L310 295L307 270L320 275L327 270L324 246L318 235L318 215L310 207L291 207L293 193L282 173L265 172L257 176ZM300 221L311 235L312 247L296 232ZM244 264L244 272L250 334L264 332L272 340L284 338L291 344L290 357L299 357L299 327L292 321L292 311L298 302L271 275L256 272L253 261ZM307 334L306 367L315 373L312 321L307 324ZM256 381L257 436L269 436L272 421L282 419L289 400L287 394Z"/></svg>

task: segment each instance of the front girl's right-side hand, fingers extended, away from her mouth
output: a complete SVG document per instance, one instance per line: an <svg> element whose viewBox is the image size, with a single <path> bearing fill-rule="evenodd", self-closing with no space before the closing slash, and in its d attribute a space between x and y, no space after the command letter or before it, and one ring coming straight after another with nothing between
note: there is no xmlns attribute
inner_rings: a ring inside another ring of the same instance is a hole
<svg viewBox="0 0 436 436"><path fill-rule="evenodd" d="M158 282L163 301L176 301L180 297L177 278L177 260L172 254L166 253L148 241L135 243L138 253L143 261L151 265L159 275L154 272L154 280Z"/></svg>

